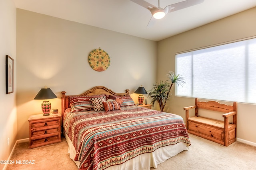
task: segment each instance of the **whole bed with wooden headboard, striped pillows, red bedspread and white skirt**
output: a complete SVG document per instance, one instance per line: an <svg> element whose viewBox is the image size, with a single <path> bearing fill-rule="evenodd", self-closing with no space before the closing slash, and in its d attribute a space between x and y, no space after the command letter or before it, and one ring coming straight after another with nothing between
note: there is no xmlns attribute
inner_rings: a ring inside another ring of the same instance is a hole
<svg viewBox="0 0 256 170"><path fill-rule="evenodd" d="M62 118L78 170L149 170L190 146L182 117L136 106L129 90L62 92Z"/></svg>

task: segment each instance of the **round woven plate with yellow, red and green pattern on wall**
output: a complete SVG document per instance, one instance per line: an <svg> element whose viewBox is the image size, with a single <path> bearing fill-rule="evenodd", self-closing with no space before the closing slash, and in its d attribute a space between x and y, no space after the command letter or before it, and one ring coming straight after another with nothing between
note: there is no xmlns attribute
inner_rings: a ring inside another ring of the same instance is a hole
<svg viewBox="0 0 256 170"><path fill-rule="evenodd" d="M108 53L100 48L90 53L88 61L90 66L96 71L105 71L110 66Z"/></svg>

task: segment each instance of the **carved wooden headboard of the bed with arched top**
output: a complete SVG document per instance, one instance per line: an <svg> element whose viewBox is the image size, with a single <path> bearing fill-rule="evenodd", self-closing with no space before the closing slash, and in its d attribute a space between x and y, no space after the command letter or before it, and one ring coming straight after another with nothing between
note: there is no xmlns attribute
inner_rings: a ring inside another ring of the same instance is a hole
<svg viewBox="0 0 256 170"><path fill-rule="evenodd" d="M125 93L116 93L113 92L111 89L108 89L104 86L96 86L90 90L87 90L86 92L84 92L83 94L79 94L79 95L69 95L69 96L92 96L92 95L98 95L98 94L108 94L108 95L115 95L115 96L128 96L129 95L129 91L128 89L125 90ZM61 97L61 115L63 117L64 111L70 107L70 103L69 103L69 96L66 96L66 92L62 91L62 97Z"/></svg>

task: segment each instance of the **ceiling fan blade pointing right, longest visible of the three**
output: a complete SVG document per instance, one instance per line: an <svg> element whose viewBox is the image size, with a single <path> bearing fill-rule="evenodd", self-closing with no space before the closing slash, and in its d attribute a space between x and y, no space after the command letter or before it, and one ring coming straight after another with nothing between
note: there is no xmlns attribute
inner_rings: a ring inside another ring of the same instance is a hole
<svg viewBox="0 0 256 170"><path fill-rule="evenodd" d="M170 13L177 10L181 10L183 8L188 8L190 6L201 4L203 2L204 0L186 0L186 1L178 2L176 4L168 5L164 8L164 10L166 10L167 13Z"/></svg>

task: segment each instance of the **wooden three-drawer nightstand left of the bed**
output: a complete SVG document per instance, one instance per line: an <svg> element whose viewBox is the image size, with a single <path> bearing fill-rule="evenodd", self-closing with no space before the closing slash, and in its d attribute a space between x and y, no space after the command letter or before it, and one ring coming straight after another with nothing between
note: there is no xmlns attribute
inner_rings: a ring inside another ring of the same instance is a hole
<svg viewBox="0 0 256 170"><path fill-rule="evenodd" d="M43 114L31 115L29 121L29 147L41 147L53 143L61 142L60 137L60 122L61 114Z"/></svg>

